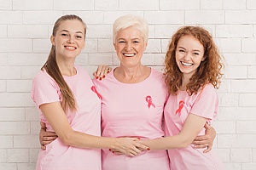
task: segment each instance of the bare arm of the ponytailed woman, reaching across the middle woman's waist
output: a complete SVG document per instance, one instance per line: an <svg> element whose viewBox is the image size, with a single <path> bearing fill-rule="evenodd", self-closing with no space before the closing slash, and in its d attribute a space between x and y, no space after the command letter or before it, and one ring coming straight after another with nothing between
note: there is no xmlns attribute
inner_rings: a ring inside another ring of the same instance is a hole
<svg viewBox="0 0 256 170"><path fill-rule="evenodd" d="M60 102L40 105L40 109L48 120L49 124L55 130L56 135L64 144L72 145L79 148L109 148L119 150L129 156L136 156L143 148L148 147L138 144L137 139L132 138L104 138L93 136L86 133L73 131L67 121L67 116L61 108Z"/></svg>

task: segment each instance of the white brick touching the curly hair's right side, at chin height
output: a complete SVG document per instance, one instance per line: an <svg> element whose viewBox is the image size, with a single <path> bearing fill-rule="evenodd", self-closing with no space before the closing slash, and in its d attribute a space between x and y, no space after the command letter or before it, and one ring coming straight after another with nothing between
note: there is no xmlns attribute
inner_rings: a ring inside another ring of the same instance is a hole
<svg viewBox="0 0 256 170"><path fill-rule="evenodd" d="M247 78L247 66L226 66L224 68L225 78Z"/></svg>

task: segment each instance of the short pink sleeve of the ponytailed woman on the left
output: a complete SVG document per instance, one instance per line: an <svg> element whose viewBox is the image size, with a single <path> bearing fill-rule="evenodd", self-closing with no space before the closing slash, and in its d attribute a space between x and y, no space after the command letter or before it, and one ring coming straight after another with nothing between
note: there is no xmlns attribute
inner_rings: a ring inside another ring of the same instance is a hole
<svg viewBox="0 0 256 170"><path fill-rule="evenodd" d="M61 101L60 88L49 75L41 71L37 77L32 80L32 100L40 106L46 103Z"/></svg>

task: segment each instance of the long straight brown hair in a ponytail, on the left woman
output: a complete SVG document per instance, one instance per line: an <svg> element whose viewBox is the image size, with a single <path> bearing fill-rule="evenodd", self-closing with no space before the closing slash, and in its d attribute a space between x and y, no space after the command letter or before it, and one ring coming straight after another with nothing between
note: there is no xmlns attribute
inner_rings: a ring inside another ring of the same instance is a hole
<svg viewBox="0 0 256 170"><path fill-rule="evenodd" d="M59 26L61 23L63 23L66 20L79 20L84 25L84 40L85 40L85 34L86 34L86 26L84 21L77 15L74 14L67 14L61 16L58 20L55 21L55 26L53 27L52 36L55 37L56 31L59 29ZM55 46L52 45L48 59L46 60L45 64L41 68L41 70L44 70L48 72L49 76L52 77L55 82L59 85L61 90L61 106L64 111L67 111L67 109L70 109L71 111L76 111L76 100L73 96L73 93L71 89L68 87L67 82L65 82L64 78L61 75L61 71L59 69L59 66L56 62L56 53L55 53Z"/></svg>

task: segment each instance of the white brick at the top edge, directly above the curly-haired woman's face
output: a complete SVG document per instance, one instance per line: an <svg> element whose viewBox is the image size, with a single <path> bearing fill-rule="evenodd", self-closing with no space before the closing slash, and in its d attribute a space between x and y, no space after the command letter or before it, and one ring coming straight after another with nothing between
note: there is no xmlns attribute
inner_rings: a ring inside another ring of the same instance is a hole
<svg viewBox="0 0 256 170"><path fill-rule="evenodd" d="M186 4L186 5L184 5ZM200 0L161 0L160 10L198 10L200 8Z"/></svg>

